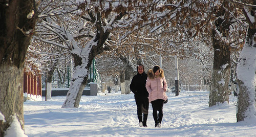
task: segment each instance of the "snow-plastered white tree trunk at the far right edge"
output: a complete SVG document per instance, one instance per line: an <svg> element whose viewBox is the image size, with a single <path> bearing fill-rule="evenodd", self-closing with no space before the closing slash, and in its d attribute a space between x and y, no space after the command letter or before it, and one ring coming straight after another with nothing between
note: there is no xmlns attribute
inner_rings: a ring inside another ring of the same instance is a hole
<svg viewBox="0 0 256 137"><path fill-rule="evenodd" d="M248 28L246 41L240 53L237 80L239 85L237 122L245 118L255 118L255 81L256 81L256 29ZM246 74L246 75L245 75Z"/></svg>

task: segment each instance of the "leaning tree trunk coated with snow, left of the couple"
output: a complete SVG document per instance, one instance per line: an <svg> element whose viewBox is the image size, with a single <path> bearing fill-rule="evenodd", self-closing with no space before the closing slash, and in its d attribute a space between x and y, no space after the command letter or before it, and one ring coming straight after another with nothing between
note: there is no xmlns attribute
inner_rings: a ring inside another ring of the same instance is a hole
<svg viewBox="0 0 256 137"><path fill-rule="evenodd" d="M97 21L97 23L100 23L100 21ZM83 89L84 87L86 87L88 81L88 73L92 61L96 55L103 52L103 44L109 37L109 35L109 31L99 31L95 39L91 40L94 42L88 42L89 44L85 46L86 48L82 49L83 52L81 51L81 54L72 54L75 61L75 68L73 70L74 74L70 84L69 92L67 94L67 98L62 104L62 108L79 107ZM97 45L94 45L95 43L97 43Z"/></svg>

